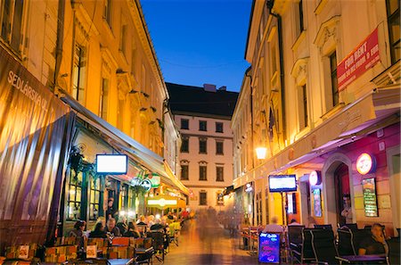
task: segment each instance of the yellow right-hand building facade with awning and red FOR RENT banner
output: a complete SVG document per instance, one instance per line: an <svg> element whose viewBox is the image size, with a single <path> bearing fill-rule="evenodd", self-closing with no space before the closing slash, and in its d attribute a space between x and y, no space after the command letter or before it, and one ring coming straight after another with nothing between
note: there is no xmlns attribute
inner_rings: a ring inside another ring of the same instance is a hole
<svg viewBox="0 0 401 265"><path fill-rule="evenodd" d="M254 187L254 224L276 215L282 223L314 219L333 227L381 222L397 233L398 29L393 1L253 2L245 54L251 68L232 126L234 187ZM265 159L257 147L266 148ZM358 171L362 153L375 170ZM309 182L313 171L317 183ZM282 200L269 193L268 179L286 174L296 175L298 191ZM341 215L346 204L348 219Z"/></svg>

